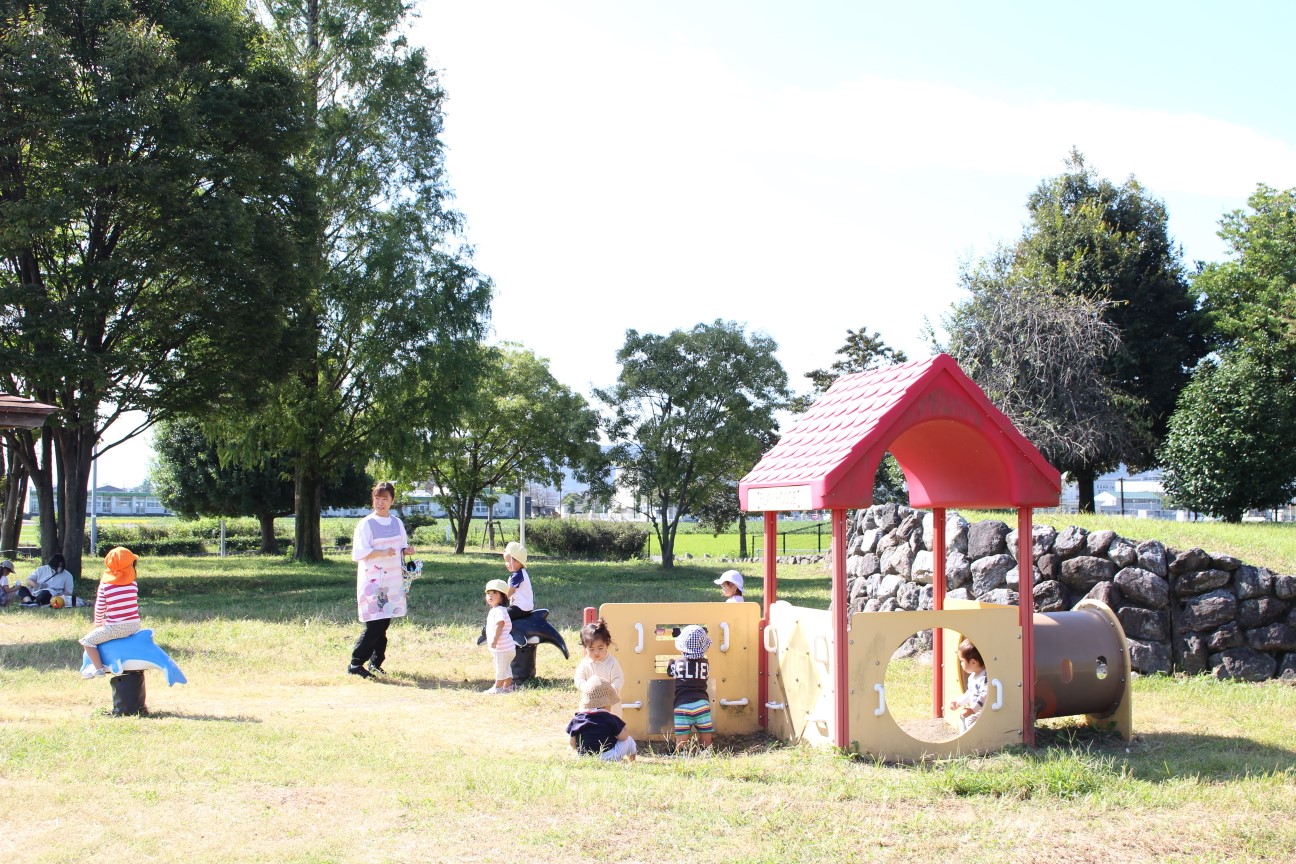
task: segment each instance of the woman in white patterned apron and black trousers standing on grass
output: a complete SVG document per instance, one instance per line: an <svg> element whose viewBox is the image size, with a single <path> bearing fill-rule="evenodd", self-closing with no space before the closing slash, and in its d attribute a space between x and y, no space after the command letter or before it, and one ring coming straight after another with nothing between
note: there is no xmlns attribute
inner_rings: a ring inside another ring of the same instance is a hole
<svg viewBox="0 0 1296 864"><path fill-rule="evenodd" d="M406 614L404 556L410 548L404 525L391 516L397 490L389 482L373 487L373 513L355 526L351 560L356 562L355 598L364 632L355 640L347 672L360 677L386 675L388 627Z"/></svg>

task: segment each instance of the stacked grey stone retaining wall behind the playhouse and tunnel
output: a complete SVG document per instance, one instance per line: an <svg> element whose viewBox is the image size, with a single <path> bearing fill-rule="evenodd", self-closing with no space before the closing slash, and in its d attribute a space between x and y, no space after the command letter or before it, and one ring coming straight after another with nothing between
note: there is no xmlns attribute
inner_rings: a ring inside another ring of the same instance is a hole
<svg viewBox="0 0 1296 864"><path fill-rule="evenodd" d="M1125 628L1137 672L1296 683L1296 576L1115 531L1036 525L1032 534L1036 611L1103 601ZM931 609L933 536L929 512L858 510L846 535L850 610ZM947 597L1017 604L1016 530L947 512L942 553Z"/></svg>

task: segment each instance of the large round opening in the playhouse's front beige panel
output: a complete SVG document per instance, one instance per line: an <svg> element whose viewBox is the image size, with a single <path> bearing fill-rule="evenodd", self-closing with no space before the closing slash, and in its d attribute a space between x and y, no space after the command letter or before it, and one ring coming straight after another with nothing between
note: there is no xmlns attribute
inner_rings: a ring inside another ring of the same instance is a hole
<svg viewBox="0 0 1296 864"><path fill-rule="evenodd" d="M941 716L933 716L936 665L932 662L932 646L936 632L942 635L941 639L947 646L958 645L959 635L951 630L923 630L911 633L892 652L890 663L886 666L886 677L883 683L886 711L896 720L896 725L918 741L950 741L963 734L964 731L959 722L962 709L945 710L941 711ZM949 648L946 652L949 653ZM942 694L946 706L963 697L967 677L959 672L955 680L962 683L962 688ZM946 680L949 680L949 675ZM971 723L975 722L973 718Z"/></svg>

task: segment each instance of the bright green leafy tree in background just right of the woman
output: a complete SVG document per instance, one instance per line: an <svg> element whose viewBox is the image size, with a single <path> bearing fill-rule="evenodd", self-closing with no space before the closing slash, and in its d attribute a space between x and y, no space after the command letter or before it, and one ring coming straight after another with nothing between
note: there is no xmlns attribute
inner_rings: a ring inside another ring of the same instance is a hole
<svg viewBox="0 0 1296 864"><path fill-rule="evenodd" d="M482 378L447 434L432 433L416 462L430 477L463 553L473 503L490 490L518 490L539 481L557 486L562 468L577 474L601 465L599 416L584 396L551 373L548 361L518 345L483 355Z"/></svg>

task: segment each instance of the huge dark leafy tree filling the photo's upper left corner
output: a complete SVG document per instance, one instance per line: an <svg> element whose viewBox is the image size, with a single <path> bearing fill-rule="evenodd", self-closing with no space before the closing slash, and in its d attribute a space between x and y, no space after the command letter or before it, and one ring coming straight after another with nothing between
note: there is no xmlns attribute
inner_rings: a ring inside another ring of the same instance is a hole
<svg viewBox="0 0 1296 864"><path fill-rule="evenodd" d="M60 409L4 435L44 554L79 567L92 453L260 387L299 297L301 109L238 4L0 9L0 386Z"/></svg>

